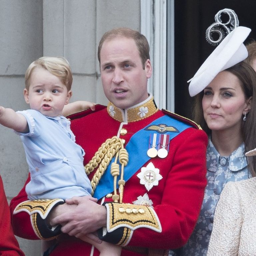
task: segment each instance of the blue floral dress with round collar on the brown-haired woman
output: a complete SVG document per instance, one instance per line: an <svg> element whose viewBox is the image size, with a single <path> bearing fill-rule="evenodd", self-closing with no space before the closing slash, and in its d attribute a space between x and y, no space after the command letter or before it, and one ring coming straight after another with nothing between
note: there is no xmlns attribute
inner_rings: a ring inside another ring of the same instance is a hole
<svg viewBox="0 0 256 256"><path fill-rule="evenodd" d="M207 151L207 186L196 227L187 244L177 251L169 251L169 256L206 256L212 232L214 212L220 193L229 181L251 178L247 168L245 145L242 143L228 157L222 157L209 139Z"/></svg>

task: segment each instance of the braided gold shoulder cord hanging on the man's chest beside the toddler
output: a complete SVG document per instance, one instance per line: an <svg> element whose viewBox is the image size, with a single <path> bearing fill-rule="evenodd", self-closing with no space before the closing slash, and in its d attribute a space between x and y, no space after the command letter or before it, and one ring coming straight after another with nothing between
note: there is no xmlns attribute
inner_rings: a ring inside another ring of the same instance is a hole
<svg viewBox="0 0 256 256"><path fill-rule="evenodd" d="M94 191L104 174L105 170L107 169L110 161L115 157L115 162L111 164L111 174L114 176L114 195L112 196L112 199L114 202L122 203L123 200L123 191L124 191L124 185L125 181L123 179L124 176L124 166L128 163L128 152L124 148L124 144L120 138L117 136L112 137L111 139L107 139L106 142L104 142L98 151L95 153L92 160L85 165L85 172L87 175L89 175L91 172L94 171L95 168L99 166L95 174L93 175L93 178L91 180L92 185L92 193L94 194ZM121 164L121 177L118 181L119 185L119 195L117 195L116 192L116 182L117 182L117 176L120 174L120 168L119 164L117 163L117 159L119 160L119 163Z"/></svg>

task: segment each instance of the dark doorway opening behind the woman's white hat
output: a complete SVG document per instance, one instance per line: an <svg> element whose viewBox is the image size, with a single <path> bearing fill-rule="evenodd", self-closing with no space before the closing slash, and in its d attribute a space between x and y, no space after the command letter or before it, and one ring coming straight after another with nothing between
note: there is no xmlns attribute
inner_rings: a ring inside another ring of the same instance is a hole
<svg viewBox="0 0 256 256"><path fill-rule="evenodd" d="M239 26L252 29L245 44L256 39L256 1L253 0L176 0L175 13L175 112L192 118L193 98L187 80L216 48L205 39L206 29L215 22L215 14L224 8L235 11ZM168 68L168 64L167 64Z"/></svg>

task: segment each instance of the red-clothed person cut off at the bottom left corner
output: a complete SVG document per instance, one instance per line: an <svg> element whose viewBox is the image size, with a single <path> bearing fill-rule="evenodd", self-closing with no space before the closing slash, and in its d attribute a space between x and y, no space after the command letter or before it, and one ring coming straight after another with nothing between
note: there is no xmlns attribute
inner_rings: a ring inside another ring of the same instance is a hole
<svg viewBox="0 0 256 256"><path fill-rule="evenodd" d="M16 240L12 226L11 214L4 193L3 181L0 176L0 255L2 256L24 256Z"/></svg>

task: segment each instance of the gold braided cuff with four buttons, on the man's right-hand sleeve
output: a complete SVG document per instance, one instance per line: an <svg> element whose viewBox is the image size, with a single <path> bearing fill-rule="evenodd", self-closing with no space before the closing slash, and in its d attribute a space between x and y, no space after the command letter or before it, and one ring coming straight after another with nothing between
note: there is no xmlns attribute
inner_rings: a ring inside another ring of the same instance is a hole
<svg viewBox="0 0 256 256"><path fill-rule="evenodd" d="M124 203L106 203L107 231L112 232L120 227L131 230L137 228L149 228L156 232L162 232L160 221L153 208L145 205Z"/></svg>

